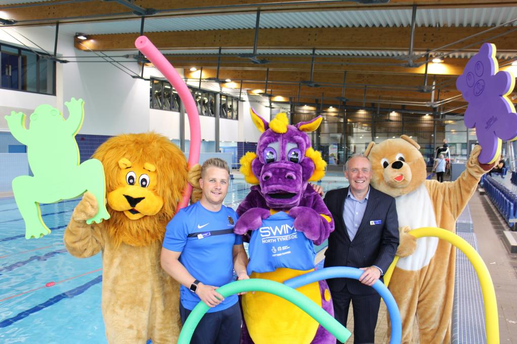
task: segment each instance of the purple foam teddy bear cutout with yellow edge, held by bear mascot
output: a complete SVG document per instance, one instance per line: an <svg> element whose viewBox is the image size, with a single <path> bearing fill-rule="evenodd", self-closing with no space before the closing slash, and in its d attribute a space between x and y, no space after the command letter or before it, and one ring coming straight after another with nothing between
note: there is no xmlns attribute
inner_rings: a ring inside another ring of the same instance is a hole
<svg viewBox="0 0 517 344"><path fill-rule="evenodd" d="M484 43L456 80L456 87L468 102L465 125L476 127L481 163L492 163L499 157L501 140L517 138L517 114L506 97L515 79L509 72L497 71L495 51L494 44Z"/></svg>

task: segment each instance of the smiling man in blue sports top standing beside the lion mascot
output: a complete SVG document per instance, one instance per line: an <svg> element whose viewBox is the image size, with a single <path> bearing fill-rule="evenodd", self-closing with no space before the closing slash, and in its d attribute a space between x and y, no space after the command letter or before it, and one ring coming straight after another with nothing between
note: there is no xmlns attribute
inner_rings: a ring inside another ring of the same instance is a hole
<svg viewBox="0 0 517 344"><path fill-rule="evenodd" d="M201 168L201 200L178 211L166 227L161 266L181 283L179 313L185 323L203 301L210 308L192 335L195 344L238 344L242 323L238 297L224 299L217 288L233 280L249 279L242 237L233 233L236 212L222 205L230 169L211 158Z"/></svg>

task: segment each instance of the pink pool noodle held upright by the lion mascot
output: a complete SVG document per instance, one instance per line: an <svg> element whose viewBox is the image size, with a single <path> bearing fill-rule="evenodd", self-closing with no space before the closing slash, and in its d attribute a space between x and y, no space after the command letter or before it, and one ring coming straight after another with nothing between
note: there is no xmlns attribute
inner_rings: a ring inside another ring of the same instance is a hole
<svg viewBox="0 0 517 344"><path fill-rule="evenodd" d="M155 65L171 85L178 91L178 95L185 104L185 110L189 118L190 125L190 150L189 150L189 167L199 162L199 153L201 150L201 127L199 123L199 113L194 102L194 98L190 93L187 84L179 76L178 72L172 67L172 64L160 53L158 48L145 36L140 36L134 42L134 45L145 57ZM178 204L178 210L184 208L189 203L192 185L188 184L183 192L183 199Z"/></svg>

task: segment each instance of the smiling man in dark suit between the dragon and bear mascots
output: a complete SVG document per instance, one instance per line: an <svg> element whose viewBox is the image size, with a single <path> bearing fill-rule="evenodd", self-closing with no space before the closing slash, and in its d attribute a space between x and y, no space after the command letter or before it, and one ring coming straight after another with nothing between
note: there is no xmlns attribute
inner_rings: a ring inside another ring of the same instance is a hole
<svg viewBox="0 0 517 344"><path fill-rule="evenodd" d="M356 154L345 165L349 187L331 190L324 202L336 229L328 238L325 267L363 270L359 281L328 280L334 317L346 326L350 302L354 308L354 343L373 343L381 296L371 287L390 266L399 245L395 200L370 186L372 165Z"/></svg>

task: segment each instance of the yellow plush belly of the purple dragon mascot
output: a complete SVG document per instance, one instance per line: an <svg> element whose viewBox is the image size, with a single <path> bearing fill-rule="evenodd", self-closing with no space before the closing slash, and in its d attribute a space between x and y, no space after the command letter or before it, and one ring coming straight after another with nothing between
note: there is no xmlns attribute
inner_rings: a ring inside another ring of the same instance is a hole
<svg viewBox="0 0 517 344"><path fill-rule="evenodd" d="M300 271L278 268L273 272L253 272L250 277L283 283L311 271L314 269ZM322 300L318 282L296 290L321 307ZM291 302L262 291L246 293L242 297L242 309L246 326L255 344L310 343L314 339L319 325ZM296 328L293 328L294 324L296 324Z"/></svg>

